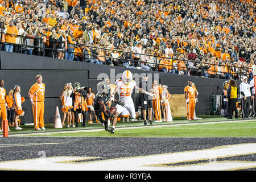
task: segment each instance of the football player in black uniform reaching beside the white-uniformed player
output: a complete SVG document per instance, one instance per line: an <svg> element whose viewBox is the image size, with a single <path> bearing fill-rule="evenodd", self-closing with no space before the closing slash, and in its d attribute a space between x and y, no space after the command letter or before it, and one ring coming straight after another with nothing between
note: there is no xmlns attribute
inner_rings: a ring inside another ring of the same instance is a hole
<svg viewBox="0 0 256 182"><path fill-rule="evenodd" d="M97 90L98 93L96 94L94 98L94 109L95 109L95 114L97 117L100 119L101 123L104 123L105 130L108 130L108 119L110 117L114 117L115 115L112 115L109 113L109 106L108 102L110 101L110 88L105 82L99 82L97 84ZM117 101L114 99L114 102L116 104L119 104L121 106L125 106L125 104L122 101ZM102 118L101 112L103 111L105 120Z"/></svg>

